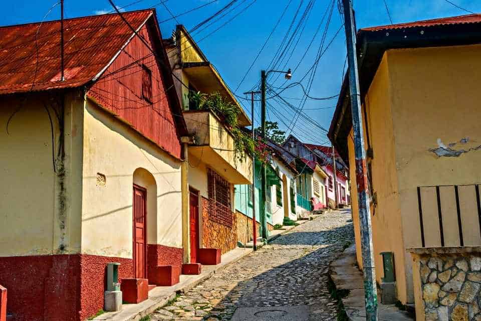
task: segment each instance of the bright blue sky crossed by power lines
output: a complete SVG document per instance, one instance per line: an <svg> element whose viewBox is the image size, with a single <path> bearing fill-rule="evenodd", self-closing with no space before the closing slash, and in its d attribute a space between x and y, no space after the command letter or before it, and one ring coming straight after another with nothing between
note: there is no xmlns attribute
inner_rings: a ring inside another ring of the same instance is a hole
<svg viewBox="0 0 481 321"><path fill-rule="evenodd" d="M164 0L165 1L165 0ZM238 0L237 3L242 4L227 15L224 19L219 20L206 30L194 33L193 38L197 41L214 31L220 25L225 23L230 17L236 15L243 8L247 7L253 0L245 1ZM459 7L465 8L472 12L481 12L481 1L479 0L450 0ZM160 0L115 0L114 3L119 6L125 6L138 2L125 10L137 10L154 7L157 10L159 21L170 18L169 13L161 5ZM167 0L165 5L174 13L174 15L182 13L188 9L197 7L208 3L208 0ZM216 3L208 5L198 11L178 18L181 24L184 24L189 30L197 23L216 12L227 4L229 0L219 0ZM292 0L288 7L284 18L281 20L276 31L273 33L270 41L267 43L259 59L254 64L250 73L248 73L245 81L240 85L236 91L242 96L244 91L253 88L260 79L261 69L267 68L273 59L277 49L279 48L286 31L289 28L291 21L295 15L297 7L301 4L301 12L304 11L308 4L308 0ZM321 18L325 13L328 0L316 0L312 13L310 14L306 27L302 35L300 35L297 46L292 47L292 56L286 62L286 68L294 68L298 65L300 59L306 52L316 29L319 26ZM56 0L39 0L33 2L32 0L16 0L4 1L0 3L2 19L0 25L14 25L29 22L38 22L43 19L49 9L56 3ZM249 66L258 54L260 48L266 41L267 37L273 30L274 25L281 16L284 8L289 3L289 0L257 0L245 12L238 15L235 19L227 23L225 26L208 36L206 39L199 42L204 54L216 66L221 76L226 83L234 90L240 80L244 77ZM467 14L460 9L450 5L446 0L386 0L393 23L403 23L416 20L450 17ZM74 18L80 16L95 15L102 12L111 11L111 6L107 0L83 0L73 1L65 0L65 15L66 18ZM383 0L357 0L354 1L354 9L356 12L356 23L358 28L386 25L389 24L389 18L386 13ZM47 20L59 19L60 6L54 8L49 14ZM298 21L298 20L297 20ZM296 22L297 22L296 21ZM176 22L174 20L167 21L161 24L161 31L164 38L170 36ZM299 81L302 76L306 74L308 69L313 65L319 44L321 42L321 31L315 38L310 50L304 60L300 63L299 69L293 73L293 78L290 82ZM341 27L341 17L336 8L333 11L333 17L326 34L326 44L333 39L337 30ZM294 39L294 42L298 41ZM326 97L339 93L341 85L342 71L346 58L344 29L334 38L332 44L325 51L325 54L319 60L318 69L314 77L310 96ZM284 64L283 64L284 65ZM279 78L275 81L275 77L270 79L269 83L276 87L283 87L288 85L287 82ZM307 78L303 82L307 83ZM283 97L296 107L299 107L302 97L302 90L299 86L292 89L285 90L282 93ZM250 103L242 101L246 107L249 108ZM280 104L271 102L273 107L268 107L268 119L279 121L281 129L287 130L287 125L292 124L293 112L288 110ZM324 128L329 128L336 99L333 100L308 100L304 105L304 111ZM257 105L257 109L260 107ZM326 109L318 109L326 108ZM274 110L272 110L274 109ZM259 124L258 111L256 111L255 121ZM290 132L290 130L288 130ZM309 124L304 119L299 119L294 126L294 132L301 140L311 143L327 143L325 133L316 126Z"/></svg>

